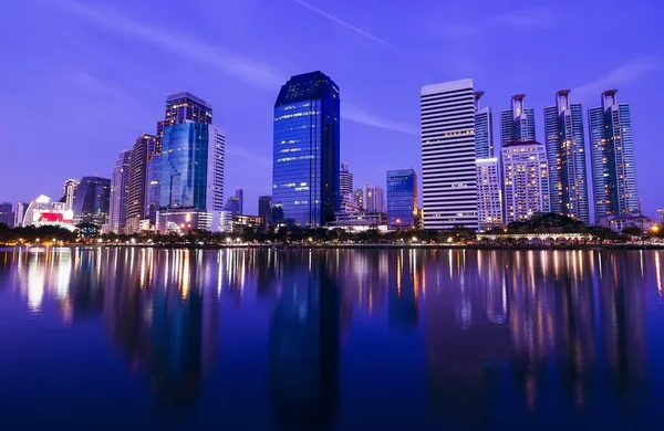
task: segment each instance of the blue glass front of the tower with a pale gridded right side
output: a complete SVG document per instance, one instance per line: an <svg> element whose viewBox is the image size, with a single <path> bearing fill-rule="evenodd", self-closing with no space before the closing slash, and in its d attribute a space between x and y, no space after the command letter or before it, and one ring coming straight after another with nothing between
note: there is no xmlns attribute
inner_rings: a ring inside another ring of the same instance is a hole
<svg viewBox="0 0 664 431"><path fill-rule="evenodd" d="M181 123L164 129L162 154L155 156L160 172L159 209L206 209L209 126Z"/></svg>

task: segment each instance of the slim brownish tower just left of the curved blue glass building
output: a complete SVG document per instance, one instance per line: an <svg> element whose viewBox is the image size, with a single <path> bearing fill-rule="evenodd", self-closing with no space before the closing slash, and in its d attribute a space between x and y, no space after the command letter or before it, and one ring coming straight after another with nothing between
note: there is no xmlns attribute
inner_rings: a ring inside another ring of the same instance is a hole
<svg viewBox="0 0 664 431"><path fill-rule="evenodd" d="M141 230L141 220L145 217L147 189L154 186L151 185L151 181L146 180L147 153L149 148L154 148L154 146L155 136L143 134L138 139L136 139L129 156L125 233L131 234L138 232Z"/></svg>

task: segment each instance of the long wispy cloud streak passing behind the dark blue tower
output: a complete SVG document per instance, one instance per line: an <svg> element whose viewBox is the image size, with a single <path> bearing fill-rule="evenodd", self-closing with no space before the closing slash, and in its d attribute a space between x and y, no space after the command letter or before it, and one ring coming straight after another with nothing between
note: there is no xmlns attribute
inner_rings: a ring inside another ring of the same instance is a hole
<svg viewBox="0 0 664 431"><path fill-rule="evenodd" d="M207 45L188 38L181 32L178 32L177 36L172 36L168 32L148 27L144 22L136 22L111 11L97 10L81 3L58 2L55 4L81 15L98 28L144 41L164 51L207 64L252 86L276 92L286 82L284 75L268 64L246 59L221 46ZM381 118L345 103L342 106L342 117L367 126L406 134L413 133L411 126Z"/></svg>

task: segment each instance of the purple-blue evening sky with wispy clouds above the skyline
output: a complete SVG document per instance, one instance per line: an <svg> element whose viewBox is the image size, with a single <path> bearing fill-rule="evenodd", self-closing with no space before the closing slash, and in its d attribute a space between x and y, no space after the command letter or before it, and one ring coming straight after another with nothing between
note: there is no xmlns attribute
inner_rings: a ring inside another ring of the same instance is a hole
<svg viewBox="0 0 664 431"><path fill-rule="evenodd" d="M537 4L537 7L533 7ZM226 195L245 212L270 193L272 106L292 74L341 87L342 160L355 183L419 162L419 88L471 77L485 105L572 88L632 104L643 208L664 208L656 0L21 0L0 27L0 201L59 198L62 182L110 177L122 149L155 133L167 94L214 106L227 135ZM498 137L498 129L495 130ZM590 170L589 170L590 171Z"/></svg>

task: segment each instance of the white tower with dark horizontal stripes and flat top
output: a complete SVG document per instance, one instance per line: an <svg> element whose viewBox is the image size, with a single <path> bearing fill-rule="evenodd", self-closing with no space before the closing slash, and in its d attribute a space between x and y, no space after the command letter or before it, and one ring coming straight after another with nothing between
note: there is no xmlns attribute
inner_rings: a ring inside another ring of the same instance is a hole
<svg viewBox="0 0 664 431"><path fill-rule="evenodd" d="M473 81L421 92L422 198L425 229L478 229Z"/></svg>

